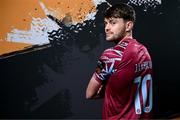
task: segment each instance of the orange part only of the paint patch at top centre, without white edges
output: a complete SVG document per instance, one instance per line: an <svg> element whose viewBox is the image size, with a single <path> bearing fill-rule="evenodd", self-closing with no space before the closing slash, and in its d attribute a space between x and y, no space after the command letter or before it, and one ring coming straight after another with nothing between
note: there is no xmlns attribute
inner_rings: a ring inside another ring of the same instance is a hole
<svg viewBox="0 0 180 120"><path fill-rule="evenodd" d="M92 0L42 0L48 10L58 19L63 19L67 14L72 22L83 22L88 13L95 12L96 7Z"/></svg>

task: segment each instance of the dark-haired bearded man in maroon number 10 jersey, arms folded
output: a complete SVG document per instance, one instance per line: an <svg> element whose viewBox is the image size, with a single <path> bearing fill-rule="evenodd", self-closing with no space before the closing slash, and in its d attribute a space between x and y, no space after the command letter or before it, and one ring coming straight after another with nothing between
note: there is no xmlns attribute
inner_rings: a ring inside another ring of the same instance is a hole
<svg viewBox="0 0 180 120"><path fill-rule="evenodd" d="M104 17L106 40L116 45L99 58L86 98L104 97L103 119L150 119L152 62L147 49L132 37L135 11L120 3Z"/></svg>

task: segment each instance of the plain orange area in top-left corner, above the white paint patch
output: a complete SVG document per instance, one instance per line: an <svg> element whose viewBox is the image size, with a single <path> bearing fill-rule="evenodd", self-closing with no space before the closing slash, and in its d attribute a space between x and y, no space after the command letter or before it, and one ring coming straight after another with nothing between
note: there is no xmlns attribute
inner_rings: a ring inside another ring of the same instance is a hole
<svg viewBox="0 0 180 120"><path fill-rule="evenodd" d="M13 28L29 30L32 17L46 17L38 0L1 0L0 39L5 40Z"/></svg>

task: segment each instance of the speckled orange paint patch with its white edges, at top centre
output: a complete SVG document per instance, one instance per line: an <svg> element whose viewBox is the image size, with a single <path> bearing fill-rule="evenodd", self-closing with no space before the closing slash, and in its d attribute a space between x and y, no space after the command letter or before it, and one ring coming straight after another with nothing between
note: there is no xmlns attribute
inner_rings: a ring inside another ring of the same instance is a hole
<svg viewBox="0 0 180 120"><path fill-rule="evenodd" d="M62 20L67 14L72 18L72 23L82 23L85 19L90 19L90 16L96 13L96 6L103 3L105 0L92 1L92 0L75 0L67 1L61 0L52 7L45 7L44 3L40 2L41 8L45 11L46 15L51 15L59 20ZM87 18L88 16L88 18ZM94 19L94 16L92 16Z"/></svg>

